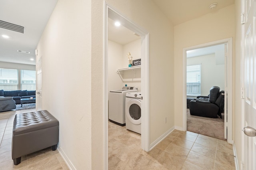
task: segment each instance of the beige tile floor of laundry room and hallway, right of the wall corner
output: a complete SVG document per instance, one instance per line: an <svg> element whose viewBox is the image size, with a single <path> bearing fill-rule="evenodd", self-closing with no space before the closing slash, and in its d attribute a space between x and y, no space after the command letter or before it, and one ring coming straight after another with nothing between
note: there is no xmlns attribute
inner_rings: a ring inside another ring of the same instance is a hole
<svg viewBox="0 0 256 170"><path fill-rule="evenodd" d="M109 122L108 169L235 170L232 145L224 140L174 130L150 152L140 142L140 134Z"/></svg>

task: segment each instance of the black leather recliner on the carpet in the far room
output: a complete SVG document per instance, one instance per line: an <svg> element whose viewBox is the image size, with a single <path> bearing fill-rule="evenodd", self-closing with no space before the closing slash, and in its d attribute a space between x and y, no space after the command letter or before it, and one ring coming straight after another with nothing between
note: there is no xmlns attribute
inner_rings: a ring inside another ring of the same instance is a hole
<svg viewBox="0 0 256 170"><path fill-rule="evenodd" d="M210 118L217 118L219 115L222 118L223 101L224 91L220 91L218 86L213 86L208 97L199 97L189 102L190 115Z"/></svg>

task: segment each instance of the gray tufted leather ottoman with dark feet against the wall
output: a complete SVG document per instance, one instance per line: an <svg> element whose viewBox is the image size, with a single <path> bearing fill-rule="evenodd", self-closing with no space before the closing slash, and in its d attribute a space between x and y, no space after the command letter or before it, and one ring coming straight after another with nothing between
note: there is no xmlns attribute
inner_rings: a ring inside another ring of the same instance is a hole
<svg viewBox="0 0 256 170"><path fill-rule="evenodd" d="M20 164L21 156L52 146L59 141L59 122L48 111L15 115L12 129L12 159Z"/></svg>

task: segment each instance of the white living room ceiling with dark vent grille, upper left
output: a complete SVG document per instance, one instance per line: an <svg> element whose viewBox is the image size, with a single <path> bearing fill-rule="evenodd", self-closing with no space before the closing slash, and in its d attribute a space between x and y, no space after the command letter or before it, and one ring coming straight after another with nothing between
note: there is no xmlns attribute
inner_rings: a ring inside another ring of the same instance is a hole
<svg viewBox="0 0 256 170"><path fill-rule="evenodd" d="M0 20L24 26L25 31L22 34L0 28L0 61L36 64L36 45L57 2L58 0L1 0ZM2 35L10 38L5 39ZM28 51L30 54L17 50Z"/></svg>

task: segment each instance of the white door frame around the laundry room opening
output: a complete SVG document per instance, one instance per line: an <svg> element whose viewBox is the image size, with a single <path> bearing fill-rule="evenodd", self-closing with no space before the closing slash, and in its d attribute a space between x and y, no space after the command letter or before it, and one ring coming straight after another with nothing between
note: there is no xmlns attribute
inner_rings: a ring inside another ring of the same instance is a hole
<svg viewBox="0 0 256 170"><path fill-rule="evenodd" d="M149 33L140 26L134 24L112 6L105 2L104 11L104 129L105 129L105 167L108 167L108 20L118 21L122 26L140 36L141 57L141 148L149 151ZM122 68L122 67L121 67ZM117 70L118 72L118 70Z"/></svg>

